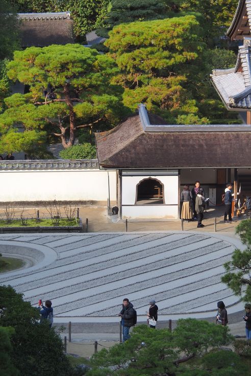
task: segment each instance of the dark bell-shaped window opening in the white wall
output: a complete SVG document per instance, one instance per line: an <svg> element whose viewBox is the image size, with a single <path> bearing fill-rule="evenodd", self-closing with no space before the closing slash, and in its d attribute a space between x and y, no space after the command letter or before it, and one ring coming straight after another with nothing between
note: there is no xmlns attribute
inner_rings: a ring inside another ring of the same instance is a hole
<svg viewBox="0 0 251 376"><path fill-rule="evenodd" d="M157 179L141 180L136 186L135 204L164 204L164 185Z"/></svg>

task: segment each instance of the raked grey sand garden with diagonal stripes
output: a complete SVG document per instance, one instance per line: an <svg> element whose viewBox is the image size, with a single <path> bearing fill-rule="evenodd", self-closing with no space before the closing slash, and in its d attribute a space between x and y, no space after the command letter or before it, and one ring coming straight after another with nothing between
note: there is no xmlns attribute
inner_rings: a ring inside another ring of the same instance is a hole
<svg viewBox="0 0 251 376"><path fill-rule="evenodd" d="M217 234L217 235L216 235ZM221 283L223 263L241 243L220 233L88 233L1 235L0 252L36 257L26 269L0 274L36 305L53 300L55 322L113 322L123 297L139 320L150 298L160 319L213 317L218 300L229 313L242 309ZM7 246L8 245L8 246ZM24 249L24 250L23 250Z"/></svg>

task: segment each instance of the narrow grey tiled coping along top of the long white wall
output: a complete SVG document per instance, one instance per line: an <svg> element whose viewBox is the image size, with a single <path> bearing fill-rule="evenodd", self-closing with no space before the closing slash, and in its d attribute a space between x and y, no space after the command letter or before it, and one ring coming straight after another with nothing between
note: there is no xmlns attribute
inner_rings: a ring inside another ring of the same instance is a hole
<svg viewBox="0 0 251 376"><path fill-rule="evenodd" d="M0 173L8 170L79 170L87 168L98 168L97 159L0 161Z"/></svg>

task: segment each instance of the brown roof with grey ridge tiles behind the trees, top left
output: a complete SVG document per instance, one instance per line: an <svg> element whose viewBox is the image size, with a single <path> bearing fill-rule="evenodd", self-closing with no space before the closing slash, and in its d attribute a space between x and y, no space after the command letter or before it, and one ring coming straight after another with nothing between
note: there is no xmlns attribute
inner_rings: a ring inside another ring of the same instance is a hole
<svg viewBox="0 0 251 376"><path fill-rule="evenodd" d="M69 12L19 13L21 46L44 47L73 43L73 20Z"/></svg>

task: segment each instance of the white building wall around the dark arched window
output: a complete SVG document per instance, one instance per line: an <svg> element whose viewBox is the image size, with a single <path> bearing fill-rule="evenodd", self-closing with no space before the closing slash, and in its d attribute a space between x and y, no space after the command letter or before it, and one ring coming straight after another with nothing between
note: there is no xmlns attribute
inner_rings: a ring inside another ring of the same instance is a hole
<svg viewBox="0 0 251 376"><path fill-rule="evenodd" d="M156 172L155 172L156 173ZM143 179L157 179L164 186L164 204L139 205L136 202L136 187ZM179 218L179 177L178 171L173 171L171 176L140 174L137 176L122 175L121 183L121 217L122 219L140 218Z"/></svg>

